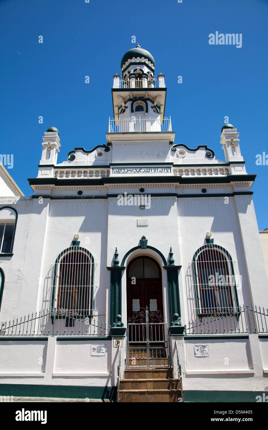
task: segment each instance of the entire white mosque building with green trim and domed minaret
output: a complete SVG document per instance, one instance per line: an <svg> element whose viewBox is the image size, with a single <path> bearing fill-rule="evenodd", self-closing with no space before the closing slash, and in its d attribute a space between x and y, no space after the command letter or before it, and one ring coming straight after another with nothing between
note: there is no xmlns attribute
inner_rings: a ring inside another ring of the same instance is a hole
<svg viewBox="0 0 268 430"><path fill-rule="evenodd" d="M224 160L218 144L176 143L166 90L137 45L114 75L106 141L66 148L49 127L29 197L0 171L0 395L256 402L265 391L256 175L231 124Z"/></svg>

